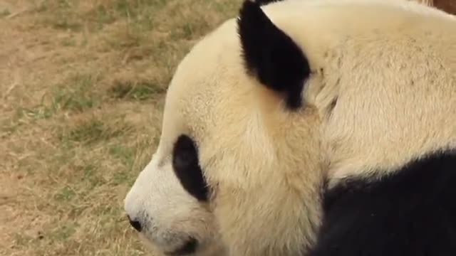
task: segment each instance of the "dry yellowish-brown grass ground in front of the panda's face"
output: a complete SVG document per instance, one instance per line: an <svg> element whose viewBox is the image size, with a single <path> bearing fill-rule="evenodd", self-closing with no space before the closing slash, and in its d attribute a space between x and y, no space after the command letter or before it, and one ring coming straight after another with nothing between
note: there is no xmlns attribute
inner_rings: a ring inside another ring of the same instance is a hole
<svg viewBox="0 0 456 256"><path fill-rule="evenodd" d="M0 1L0 255L144 255L123 198L164 92L240 0Z"/></svg>

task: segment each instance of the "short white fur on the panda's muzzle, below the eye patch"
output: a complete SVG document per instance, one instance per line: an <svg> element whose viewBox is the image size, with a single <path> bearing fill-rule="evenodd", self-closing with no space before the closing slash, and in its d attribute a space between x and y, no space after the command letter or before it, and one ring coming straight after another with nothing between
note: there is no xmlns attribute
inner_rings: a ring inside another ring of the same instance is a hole
<svg viewBox="0 0 456 256"><path fill-rule="evenodd" d="M155 245L150 246L165 252L176 250L189 237L207 241L211 246L216 244L212 215L180 186L170 159L157 162L161 160L159 154L140 173L125 198L130 218L143 224L142 238L153 240Z"/></svg>

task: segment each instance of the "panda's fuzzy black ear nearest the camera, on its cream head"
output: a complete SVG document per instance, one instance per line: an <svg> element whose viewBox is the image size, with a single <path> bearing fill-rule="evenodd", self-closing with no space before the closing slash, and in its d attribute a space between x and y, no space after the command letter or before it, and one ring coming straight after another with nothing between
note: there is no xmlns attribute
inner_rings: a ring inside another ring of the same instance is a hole
<svg viewBox="0 0 456 256"><path fill-rule="evenodd" d="M257 2L244 1L237 22L247 71L271 90L284 93L288 107L301 107L301 92L311 70L299 46L269 20Z"/></svg>

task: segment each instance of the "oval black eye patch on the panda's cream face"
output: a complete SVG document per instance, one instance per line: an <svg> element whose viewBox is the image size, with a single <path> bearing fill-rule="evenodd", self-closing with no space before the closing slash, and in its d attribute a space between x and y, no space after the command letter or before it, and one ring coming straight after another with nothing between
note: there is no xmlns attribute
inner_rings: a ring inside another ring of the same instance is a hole
<svg viewBox="0 0 456 256"><path fill-rule="evenodd" d="M172 151L172 167L180 183L198 201L207 201L207 183L199 167L198 151L193 140L181 135Z"/></svg>

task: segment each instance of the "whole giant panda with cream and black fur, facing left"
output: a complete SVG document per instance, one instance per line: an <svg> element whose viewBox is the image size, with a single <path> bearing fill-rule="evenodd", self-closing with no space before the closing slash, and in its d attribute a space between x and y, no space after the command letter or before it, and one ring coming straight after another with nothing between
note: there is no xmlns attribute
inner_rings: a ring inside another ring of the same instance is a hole
<svg viewBox="0 0 456 256"><path fill-rule="evenodd" d="M162 255L456 255L456 18L249 1L167 89L125 198Z"/></svg>

